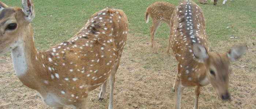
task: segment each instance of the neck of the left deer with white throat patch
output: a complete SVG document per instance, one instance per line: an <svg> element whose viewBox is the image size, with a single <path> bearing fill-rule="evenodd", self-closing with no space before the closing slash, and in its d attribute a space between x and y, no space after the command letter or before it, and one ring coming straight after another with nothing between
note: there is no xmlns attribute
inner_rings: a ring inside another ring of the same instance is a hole
<svg viewBox="0 0 256 109"><path fill-rule="evenodd" d="M35 89L37 85L34 76L36 76L37 72L34 69L40 67L36 64L38 57L35 57L38 53L35 49L31 25L29 25L29 31L25 33L25 37L18 42L18 46L11 51L15 73L24 85Z"/></svg>

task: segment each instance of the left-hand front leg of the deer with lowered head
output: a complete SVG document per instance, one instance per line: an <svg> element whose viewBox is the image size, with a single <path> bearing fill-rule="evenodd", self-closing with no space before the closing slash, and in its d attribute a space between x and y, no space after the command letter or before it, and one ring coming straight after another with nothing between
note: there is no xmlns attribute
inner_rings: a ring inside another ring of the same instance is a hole
<svg viewBox="0 0 256 109"><path fill-rule="evenodd" d="M181 85L181 81L176 78L175 83L175 104L174 109L180 109L181 96L183 93L184 87Z"/></svg>

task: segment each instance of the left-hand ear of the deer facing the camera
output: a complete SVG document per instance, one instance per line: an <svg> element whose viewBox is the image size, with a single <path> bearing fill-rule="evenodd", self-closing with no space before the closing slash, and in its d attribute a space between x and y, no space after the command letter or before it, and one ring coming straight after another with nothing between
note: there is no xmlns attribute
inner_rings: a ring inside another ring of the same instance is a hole
<svg viewBox="0 0 256 109"><path fill-rule="evenodd" d="M209 58L206 48L197 43L193 44L193 53L195 57L202 62L206 61Z"/></svg>

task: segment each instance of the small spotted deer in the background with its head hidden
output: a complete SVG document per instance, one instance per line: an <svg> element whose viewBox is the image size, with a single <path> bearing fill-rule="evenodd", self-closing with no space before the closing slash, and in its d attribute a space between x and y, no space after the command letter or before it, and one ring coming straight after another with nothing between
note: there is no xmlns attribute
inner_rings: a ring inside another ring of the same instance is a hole
<svg viewBox="0 0 256 109"><path fill-rule="evenodd" d="M153 47L154 53L157 53L157 48L155 47L155 33L157 32L157 28L165 22L170 28L170 19L173 13L175 6L173 4L158 1L147 7L146 10L146 23L149 21L149 17L151 17L153 25L150 27L150 36L151 36L151 47Z"/></svg>

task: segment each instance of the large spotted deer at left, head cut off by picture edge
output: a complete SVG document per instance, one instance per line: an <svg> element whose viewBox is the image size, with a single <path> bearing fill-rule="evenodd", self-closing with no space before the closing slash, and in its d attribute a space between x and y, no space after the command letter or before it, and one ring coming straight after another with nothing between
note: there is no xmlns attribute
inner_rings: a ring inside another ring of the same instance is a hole
<svg viewBox="0 0 256 109"><path fill-rule="evenodd" d="M22 8L0 2L0 55L11 51L19 80L54 109L84 109L89 92L102 84L99 99L104 98L109 78L113 109L115 73L127 40L124 12L96 12L71 39L45 52L35 48L30 25L34 16L32 0L22 0Z"/></svg>

